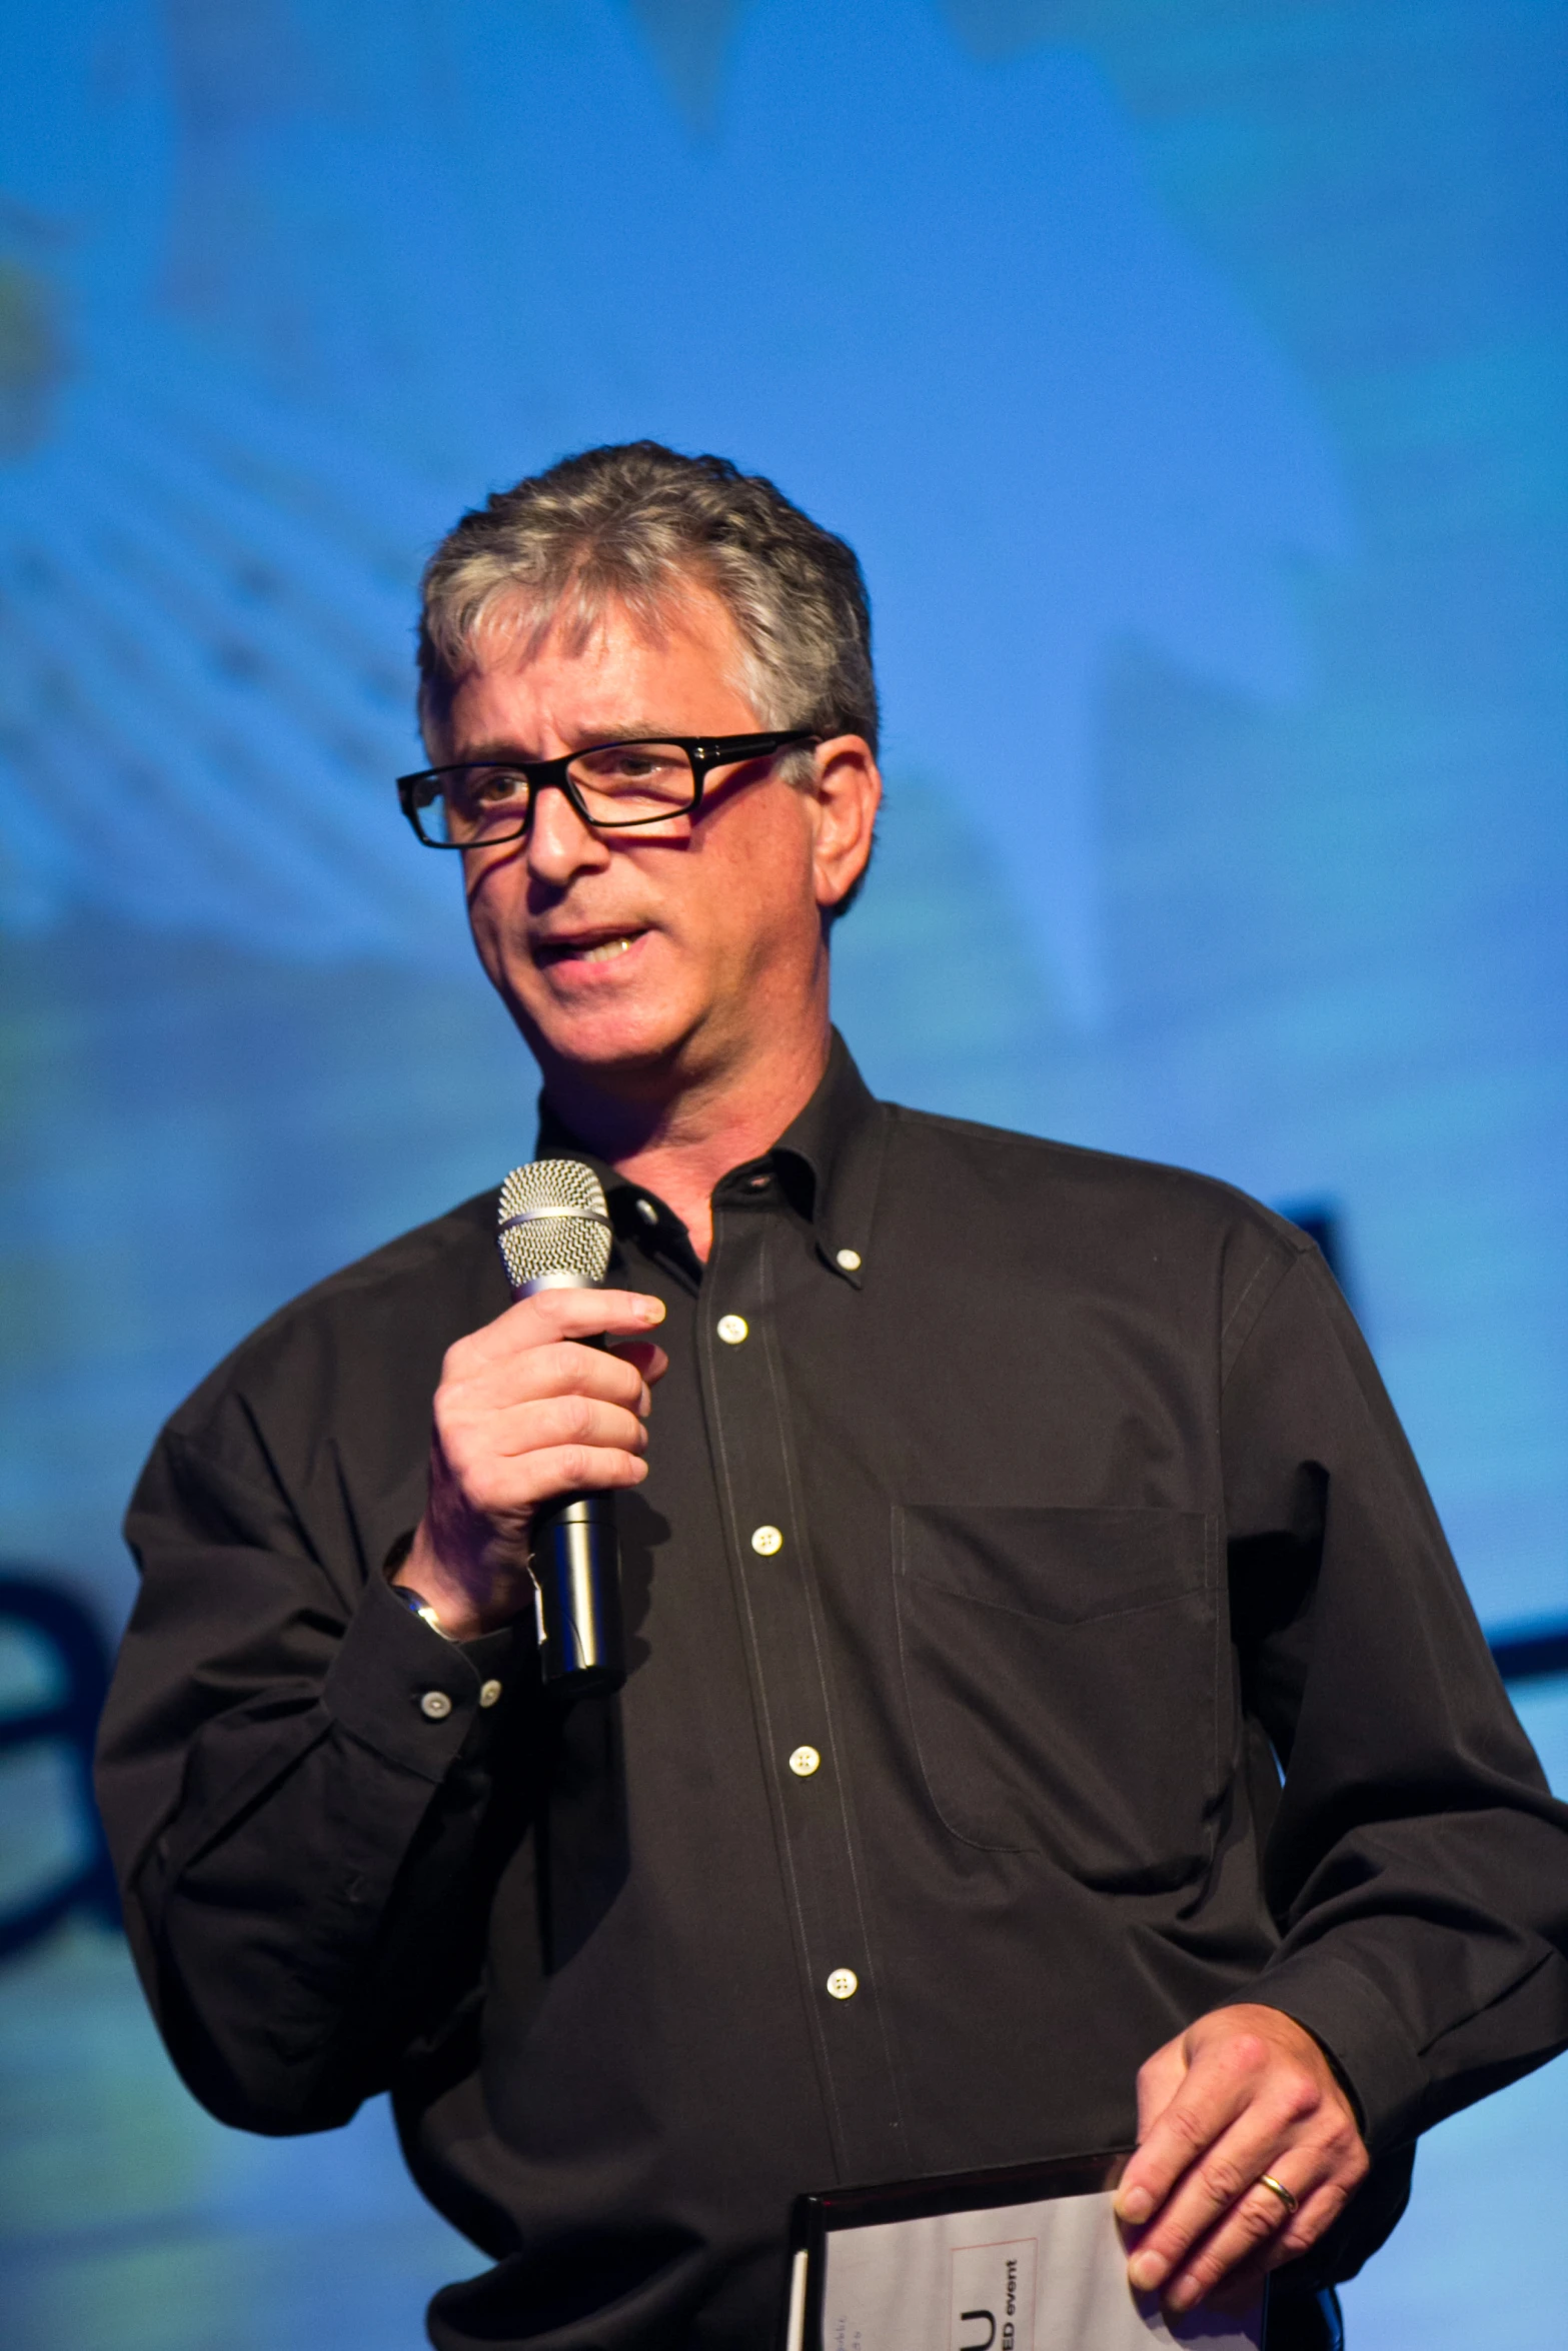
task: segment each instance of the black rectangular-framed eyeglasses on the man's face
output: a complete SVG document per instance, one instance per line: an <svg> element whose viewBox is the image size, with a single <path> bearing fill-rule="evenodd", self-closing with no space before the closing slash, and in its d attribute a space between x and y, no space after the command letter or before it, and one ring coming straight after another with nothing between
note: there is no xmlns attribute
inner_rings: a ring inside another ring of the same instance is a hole
<svg viewBox="0 0 1568 2351"><path fill-rule="evenodd" d="M520 842L541 792L564 792L595 832L668 825L696 816L715 766L771 759L820 736L661 736L588 743L562 759L461 759L397 778L402 813L425 849L491 849Z"/></svg>

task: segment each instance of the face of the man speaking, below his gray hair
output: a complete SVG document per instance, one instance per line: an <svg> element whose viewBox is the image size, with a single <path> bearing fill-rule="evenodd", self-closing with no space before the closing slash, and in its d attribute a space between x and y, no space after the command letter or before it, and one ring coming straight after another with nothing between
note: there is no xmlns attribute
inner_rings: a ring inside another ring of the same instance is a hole
<svg viewBox="0 0 1568 2351"><path fill-rule="evenodd" d="M501 642L458 686L440 755L755 734L738 675L733 623L708 590L689 590L661 635L611 604L581 649L559 630L529 658ZM715 771L696 823L663 839L595 835L564 792L543 792L527 839L463 860L480 959L545 1074L569 1065L630 1091L719 1074L825 997L820 910L853 879L842 830L832 792L764 762Z"/></svg>

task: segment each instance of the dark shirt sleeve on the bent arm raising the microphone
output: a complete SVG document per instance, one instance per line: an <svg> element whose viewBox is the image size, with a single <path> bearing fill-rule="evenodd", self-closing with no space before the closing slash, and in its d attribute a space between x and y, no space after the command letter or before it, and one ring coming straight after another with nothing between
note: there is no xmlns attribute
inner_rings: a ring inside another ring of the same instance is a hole
<svg viewBox="0 0 1568 2351"><path fill-rule="evenodd" d="M219 1418L221 1444L165 1432L132 1502L99 1803L188 2088L322 2130L473 1994L527 1834L534 1641L444 1641L378 1563L320 1556L247 1415Z"/></svg>

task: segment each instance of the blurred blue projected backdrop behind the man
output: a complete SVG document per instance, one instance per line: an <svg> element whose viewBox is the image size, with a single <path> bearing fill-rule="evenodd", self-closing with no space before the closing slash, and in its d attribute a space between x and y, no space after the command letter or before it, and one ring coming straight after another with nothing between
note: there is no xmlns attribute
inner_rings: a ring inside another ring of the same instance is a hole
<svg viewBox="0 0 1568 2351"><path fill-rule="evenodd" d="M162 1415L527 1157L418 757L418 564L658 435L863 555L872 1084L1338 1218L1488 1625L1568 1610L1566 12L0 0L0 1549L115 1629ZM47 1695L19 1634L0 1700ZM40 1679L42 1676L42 1679ZM1559 1784L1568 1697L1526 1709ZM80 1834L2 1766L0 1897ZM207 2123L78 1921L0 1972L26 2346L414 2344L371 2109ZM1366 2344L1561 2323L1549 2071Z"/></svg>

